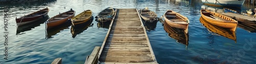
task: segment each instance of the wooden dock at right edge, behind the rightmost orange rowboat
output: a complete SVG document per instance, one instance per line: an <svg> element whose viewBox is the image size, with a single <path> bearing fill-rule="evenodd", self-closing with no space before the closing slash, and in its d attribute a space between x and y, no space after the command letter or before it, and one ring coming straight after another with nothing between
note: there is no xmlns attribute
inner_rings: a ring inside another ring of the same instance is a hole
<svg viewBox="0 0 256 64"><path fill-rule="evenodd" d="M222 15L234 18L236 20L238 20L239 22L243 22L245 24L249 24L249 25L256 25L256 18L253 17L249 17L249 16L245 16L245 15L240 15L240 14L236 14L236 13L221 13Z"/></svg>

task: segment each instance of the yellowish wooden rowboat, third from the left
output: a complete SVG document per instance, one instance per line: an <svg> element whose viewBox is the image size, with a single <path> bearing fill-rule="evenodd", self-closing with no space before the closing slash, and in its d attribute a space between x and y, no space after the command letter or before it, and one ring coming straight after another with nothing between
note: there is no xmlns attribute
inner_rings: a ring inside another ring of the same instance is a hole
<svg viewBox="0 0 256 64"><path fill-rule="evenodd" d="M72 25L75 26L77 24L85 23L91 19L92 15L93 13L91 10L83 11L71 19Z"/></svg>

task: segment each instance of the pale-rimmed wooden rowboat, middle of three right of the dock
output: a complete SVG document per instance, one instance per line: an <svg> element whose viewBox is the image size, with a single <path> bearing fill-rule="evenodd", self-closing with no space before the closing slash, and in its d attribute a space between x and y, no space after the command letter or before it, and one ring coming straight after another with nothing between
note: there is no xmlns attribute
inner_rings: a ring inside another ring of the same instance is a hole
<svg viewBox="0 0 256 64"><path fill-rule="evenodd" d="M175 28L183 29L187 33L189 24L189 19L187 17L172 10L167 10L163 14L163 17L166 24Z"/></svg>

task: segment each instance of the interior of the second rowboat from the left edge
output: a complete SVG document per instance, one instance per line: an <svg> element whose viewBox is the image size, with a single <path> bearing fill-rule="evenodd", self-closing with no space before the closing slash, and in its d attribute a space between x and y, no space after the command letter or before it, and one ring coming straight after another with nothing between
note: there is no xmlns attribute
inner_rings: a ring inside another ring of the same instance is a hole
<svg viewBox="0 0 256 64"><path fill-rule="evenodd" d="M68 12L66 12L66 13L59 14L59 15L55 16L55 17L54 17L52 20L50 20L49 22L66 18L66 17L68 17L68 16L74 14L74 12L75 12L75 11L71 10L71 11L68 11Z"/></svg>

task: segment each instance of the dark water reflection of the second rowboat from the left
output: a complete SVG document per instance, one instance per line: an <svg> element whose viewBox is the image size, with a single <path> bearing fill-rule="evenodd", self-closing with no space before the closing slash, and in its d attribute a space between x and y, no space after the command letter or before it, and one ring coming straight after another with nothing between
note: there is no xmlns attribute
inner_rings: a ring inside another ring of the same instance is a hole
<svg viewBox="0 0 256 64"><path fill-rule="evenodd" d="M71 26L70 22L61 24L61 25L56 26L56 27L51 28L51 29L47 29L47 25L46 25L46 39L52 38L53 35L56 35L61 30L69 29L69 26Z"/></svg>

